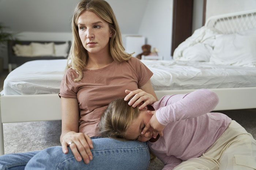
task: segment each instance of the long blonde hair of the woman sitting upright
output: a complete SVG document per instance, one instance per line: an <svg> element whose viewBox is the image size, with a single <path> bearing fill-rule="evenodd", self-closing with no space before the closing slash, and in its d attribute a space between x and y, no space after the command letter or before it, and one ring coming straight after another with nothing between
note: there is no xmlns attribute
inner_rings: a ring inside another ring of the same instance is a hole
<svg viewBox="0 0 256 170"><path fill-rule="evenodd" d="M98 15L101 19L109 24L109 28L113 35L109 39L110 55L115 62L121 63L131 58L131 54L124 52L124 47L121 38L121 32L117 23L116 17L110 5L105 0L82 0L76 6L74 16L72 19L72 45L68 56L67 67L76 70L78 78L74 81L77 82L82 79L82 71L88 62L88 53L83 47L78 32L78 17L84 11L91 11Z"/></svg>

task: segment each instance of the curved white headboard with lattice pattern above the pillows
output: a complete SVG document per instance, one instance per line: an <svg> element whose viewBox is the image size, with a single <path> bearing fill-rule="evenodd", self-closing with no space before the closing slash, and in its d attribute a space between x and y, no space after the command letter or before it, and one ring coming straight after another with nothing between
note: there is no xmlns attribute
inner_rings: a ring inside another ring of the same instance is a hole
<svg viewBox="0 0 256 170"><path fill-rule="evenodd" d="M256 10L212 16L205 26L225 34L256 28Z"/></svg>

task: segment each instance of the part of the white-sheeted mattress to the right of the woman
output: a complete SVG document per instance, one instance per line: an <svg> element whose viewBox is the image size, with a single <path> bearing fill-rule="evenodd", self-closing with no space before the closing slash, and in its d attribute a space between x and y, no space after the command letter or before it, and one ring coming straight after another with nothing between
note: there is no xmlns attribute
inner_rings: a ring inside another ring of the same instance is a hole
<svg viewBox="0 0 256 170"><path fill-rule="evenodd" d="M256 67L175 60L142 62L154 73L154 90L256 87Z"/></svg>

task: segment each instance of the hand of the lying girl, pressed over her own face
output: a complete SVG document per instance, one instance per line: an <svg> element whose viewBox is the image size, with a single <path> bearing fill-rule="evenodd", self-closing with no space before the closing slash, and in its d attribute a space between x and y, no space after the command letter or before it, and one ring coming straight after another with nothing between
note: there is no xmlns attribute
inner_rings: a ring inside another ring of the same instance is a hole
<svg viewBox="0 0 256 170"><path fill-rule="evenodd" d="M165 125L162 125L161 123L158 122L157 117L155 116L156 111L147 111L149 114L152 114L152 118L149 120L149 122L146 124L144 129L142 130L141 134L143 135L150 127L154 131L157 131L157 133L162 137L163 136L163 129L165 129ZM153 133L154 138L156 137L155 134Z"/></svg>

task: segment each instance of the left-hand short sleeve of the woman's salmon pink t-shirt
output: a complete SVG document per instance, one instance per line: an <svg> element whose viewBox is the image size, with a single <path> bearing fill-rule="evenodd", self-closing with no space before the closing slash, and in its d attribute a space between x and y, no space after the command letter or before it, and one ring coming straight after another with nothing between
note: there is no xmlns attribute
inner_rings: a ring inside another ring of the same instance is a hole
<svg viewBox="0 0 256 170"><path fill-rule="evenodd" d="M72 71L68 69L61 80L59 96L65 98L77 98L74 79Z"/></svg>

